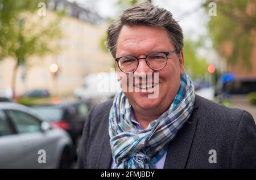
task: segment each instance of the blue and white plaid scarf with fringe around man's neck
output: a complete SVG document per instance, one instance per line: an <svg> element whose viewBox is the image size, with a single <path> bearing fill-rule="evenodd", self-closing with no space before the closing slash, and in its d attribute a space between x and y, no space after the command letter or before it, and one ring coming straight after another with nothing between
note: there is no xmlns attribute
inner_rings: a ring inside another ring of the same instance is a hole
<svg viewBox="0 0 256 180"><path fill-rule="evenodd" d="M146 129L138 130L130 120L129 100L123 92L117 93L109 114L110 146L117 168L155 168L168 143L191 115L194 101L192 80L184 72L170 108Z"/></svg>

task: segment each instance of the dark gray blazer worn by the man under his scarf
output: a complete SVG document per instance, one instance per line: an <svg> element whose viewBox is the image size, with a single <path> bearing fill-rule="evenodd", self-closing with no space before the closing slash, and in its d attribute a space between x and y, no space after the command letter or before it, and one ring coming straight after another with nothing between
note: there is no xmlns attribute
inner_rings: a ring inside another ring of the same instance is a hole
<svg viewBox="0 0 256 180"><path fill-rule="evenodd" d="M103 102L90 111L79 147L79 168L110 168L112 103ZM164 168L256 168L253 117L196 95L191 117L168 145Z"/></svg>

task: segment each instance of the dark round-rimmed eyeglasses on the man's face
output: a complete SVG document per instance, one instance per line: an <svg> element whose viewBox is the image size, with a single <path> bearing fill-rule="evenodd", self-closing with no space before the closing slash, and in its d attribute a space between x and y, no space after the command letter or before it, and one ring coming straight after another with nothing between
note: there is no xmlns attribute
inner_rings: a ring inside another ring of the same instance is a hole
<svg viewBox="0 0 256 180"><path fill-rule="evenodd" d="M144 58L125 55L123 57L116 58L115 61L117 62L119 69L125 73L136 71L139 66L139 59L146 59L148 67L150 67L152 70L162 70L162 68L166 67L167 65L168 55L176 52L177 49L171 52L153 52Z"/></svg>

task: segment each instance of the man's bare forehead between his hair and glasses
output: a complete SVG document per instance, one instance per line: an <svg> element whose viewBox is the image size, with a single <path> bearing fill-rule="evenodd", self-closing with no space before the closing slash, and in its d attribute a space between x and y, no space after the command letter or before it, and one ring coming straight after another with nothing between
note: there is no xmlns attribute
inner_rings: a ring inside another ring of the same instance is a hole
<svg viewBox="0 0 256 180"><path fill-rule="evenodd" d="M170 51L173 49L174 46L164 28L123 25L117 41L116 56L147 55L152 51Z"/></svg>

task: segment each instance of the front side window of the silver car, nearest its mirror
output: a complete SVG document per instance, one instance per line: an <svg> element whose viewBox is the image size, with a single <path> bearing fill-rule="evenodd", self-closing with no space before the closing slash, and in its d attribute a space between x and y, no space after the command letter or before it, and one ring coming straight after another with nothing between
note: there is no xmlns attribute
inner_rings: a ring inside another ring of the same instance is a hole
<svg viewBox="0 0 256 180"><path fill-rule="evenodd" d="M19 133L41 131L41 122L32 115L18 110L9 110L8 113Z"/></svg>

